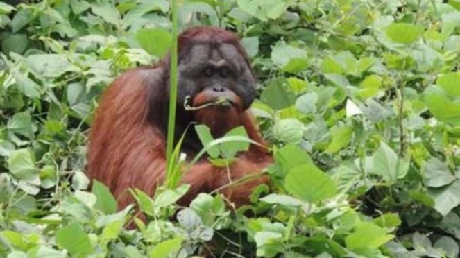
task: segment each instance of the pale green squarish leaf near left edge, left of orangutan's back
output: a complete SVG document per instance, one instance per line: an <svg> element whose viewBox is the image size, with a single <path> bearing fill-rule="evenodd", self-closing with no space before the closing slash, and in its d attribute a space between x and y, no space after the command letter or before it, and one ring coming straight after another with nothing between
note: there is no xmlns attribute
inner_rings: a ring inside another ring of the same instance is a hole
<svg viewBox="0 0 460 258"><path fill-rule="evenodd" d="M35 177L35 155L31 149L13 150L8 156L8 169L15 178L26 180Z"/></svg>

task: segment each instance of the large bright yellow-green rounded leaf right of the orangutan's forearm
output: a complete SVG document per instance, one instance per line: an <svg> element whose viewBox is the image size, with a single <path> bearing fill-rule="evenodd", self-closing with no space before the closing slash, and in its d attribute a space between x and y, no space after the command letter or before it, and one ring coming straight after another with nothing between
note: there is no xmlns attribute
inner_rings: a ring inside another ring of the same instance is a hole
<svg viewBox="0 0 460 258"><path fill-rule="evenodd" d="M305 187L306 184L308 187ZM300 165L291 169L284 178L284 187L296 198L309 203L331 198L337 189L331 178L314 164Z"/></svg>

